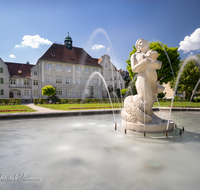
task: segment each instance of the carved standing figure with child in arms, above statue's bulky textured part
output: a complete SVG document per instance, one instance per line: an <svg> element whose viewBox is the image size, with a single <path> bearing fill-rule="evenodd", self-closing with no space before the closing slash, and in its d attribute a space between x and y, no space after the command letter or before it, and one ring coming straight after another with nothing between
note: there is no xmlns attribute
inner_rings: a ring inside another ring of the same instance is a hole
<svg viewBox="0 0 200 190"><path fill-rule="evenodd" d="M138 39L135 47L137 52L131 56L131 68L134 73L138 73L136 89L145 103L145 113L152 116L152 106L157 94L164 90L164 87L157 83L156 73L156 69L160 69L162 63L157 60L158 53L149 50L149 43L146 40Z"/></svg>

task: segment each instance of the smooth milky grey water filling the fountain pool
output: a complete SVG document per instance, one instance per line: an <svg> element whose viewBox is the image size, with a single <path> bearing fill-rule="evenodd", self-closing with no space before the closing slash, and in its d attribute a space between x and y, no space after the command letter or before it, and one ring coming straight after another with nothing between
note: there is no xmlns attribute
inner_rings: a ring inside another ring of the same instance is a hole
<svg viewBox="0 0 200 190"><path fill-rule="evenodd" d="M163 111L162 117L167 118L168 112ZM173 112L172 119L182 123L180 112ZM116 120L121 123L120 114ZM199 113L188 112L184 124L182 136L150 139L115 133L112 114L1 120L0 186L198 189Z"/></svg>

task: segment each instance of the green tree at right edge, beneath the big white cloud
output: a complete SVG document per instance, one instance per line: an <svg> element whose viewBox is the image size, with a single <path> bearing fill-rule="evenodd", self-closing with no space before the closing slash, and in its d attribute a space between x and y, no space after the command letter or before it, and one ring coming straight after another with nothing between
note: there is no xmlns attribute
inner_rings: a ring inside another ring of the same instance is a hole
<svg viewBox="0 0 200 190"><path fill-rule="evenodd" d="M196 57L199 57L199 55L196 55ZM181 61L180 68L183 62L184 60ZM200 68L198 67L198 61L196 61L195 59L189 60L180 76L177 90L179 92L186 92L186 99L190 99L192 92L199 79L200 79ZM175 88L174 80L170 82L170 87L173 89ZM199 90L200 90L200 85L197 87L196 91Z"/></svg>

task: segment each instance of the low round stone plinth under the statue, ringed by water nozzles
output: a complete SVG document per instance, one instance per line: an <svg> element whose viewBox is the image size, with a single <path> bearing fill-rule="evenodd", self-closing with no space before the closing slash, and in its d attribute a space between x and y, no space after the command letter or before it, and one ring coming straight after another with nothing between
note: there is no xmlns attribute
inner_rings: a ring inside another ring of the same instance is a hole
<svg viewBox="0 0 200 190"><path fill-rule="evenodd" d="M146 133L165 133L167 129L167 123L168 120L159 118L155 114L152 116L152 121L151 123L145 124L145 132ZM169 122L169 127L168 127L168 132L174 131L176 124L174 121L170 120ZM144 124L137 122L137 123L131 123L124 121L122 119L122 128L126 130L131 130L131 131L137 131L137 132L144 132Z"/></svg>

